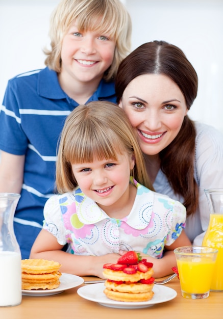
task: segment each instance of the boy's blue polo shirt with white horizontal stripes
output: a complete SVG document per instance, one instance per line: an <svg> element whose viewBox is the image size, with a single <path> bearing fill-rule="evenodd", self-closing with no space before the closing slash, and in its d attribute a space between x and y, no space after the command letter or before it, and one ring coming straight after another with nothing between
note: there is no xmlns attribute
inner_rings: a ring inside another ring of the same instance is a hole
<svg viewBox="0 0 223 319"><path fill-rule="evenodd" d="M103 79L90 97L116 102L114 83ZM48 67L10 79L0 112L0 149L26 155L14 230L22 258L29 258L43 223L43 206L55 193L57 142L67 115L78 103L61 89Z"/></svg>

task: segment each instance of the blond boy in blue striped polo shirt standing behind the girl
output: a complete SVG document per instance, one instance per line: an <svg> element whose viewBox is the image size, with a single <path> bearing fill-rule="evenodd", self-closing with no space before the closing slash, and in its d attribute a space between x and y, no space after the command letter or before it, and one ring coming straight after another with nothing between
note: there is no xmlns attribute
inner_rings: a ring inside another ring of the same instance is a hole
<svg viewBox="0 0 223 319"><path fill-rule="evenodd" d="M62 0L52 15L46 68L8 83L0 112L0 192L21 193L14 229L29 258L54 193L57 141L80 103L115 101L114 79L130 51L131 20L119 0Z"/></svg>

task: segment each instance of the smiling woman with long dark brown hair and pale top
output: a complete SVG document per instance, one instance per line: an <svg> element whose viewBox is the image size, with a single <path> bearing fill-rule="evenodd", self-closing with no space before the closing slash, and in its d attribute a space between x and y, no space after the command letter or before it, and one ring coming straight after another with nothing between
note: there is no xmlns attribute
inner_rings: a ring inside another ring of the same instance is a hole
<svg viewBox="0 0 223 319"><path fill-rule="evenodd" d="M197 94L193 66L175 45L144 43L120 64L115 87L154 189L186 206L186 233L201 245L209 223L204 189L222 188L223 137L187 115Z"/></svg>

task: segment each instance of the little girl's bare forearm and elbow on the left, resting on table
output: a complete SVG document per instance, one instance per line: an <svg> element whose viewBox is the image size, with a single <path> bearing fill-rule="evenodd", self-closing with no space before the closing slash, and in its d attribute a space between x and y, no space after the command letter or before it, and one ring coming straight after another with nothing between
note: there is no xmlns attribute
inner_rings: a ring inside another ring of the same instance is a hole
<svg viewBox="0 0 223 319"><path fill-rule="evenodd" d="M62 251L62 245L57 242L57 238L42 229L36 238L31 249L30 258L43 258L58 261L62 266L62 273L77 276L97 276L103 277L103 265L105 263L116 263L119 254L107 254L102 256L79 256Z"/></svg>

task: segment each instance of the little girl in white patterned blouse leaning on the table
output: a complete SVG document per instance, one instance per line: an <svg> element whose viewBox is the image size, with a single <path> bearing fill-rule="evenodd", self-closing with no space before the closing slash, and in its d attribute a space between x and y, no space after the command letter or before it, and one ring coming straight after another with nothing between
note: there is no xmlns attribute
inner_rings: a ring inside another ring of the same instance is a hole
<svg viewBox="0 0 223 319"><path fill-rule="evenodd" d="M57 260L62 272L103 277L104 263L135 250L150 256L156 277L172 272L173 249L190 244L186 210L150 190L134 131L118 105L95 101L73 110L56 172L61 195L45 204L31 258ZM71 254L61 250L66 243Z"/></svg>

